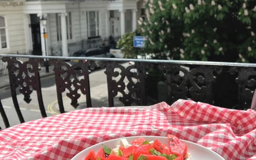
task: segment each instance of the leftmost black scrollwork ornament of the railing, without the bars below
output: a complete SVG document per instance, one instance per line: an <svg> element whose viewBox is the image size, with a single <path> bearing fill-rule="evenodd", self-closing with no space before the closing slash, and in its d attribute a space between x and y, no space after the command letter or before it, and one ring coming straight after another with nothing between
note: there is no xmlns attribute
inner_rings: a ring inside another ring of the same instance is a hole
<svg viewBox="0 0 256 160"><path fill-rule="evenodd" d="M14 89L20 87L20 93L24 95L24 101L30 103L30 94L33 90L38 90L38 73L41 70L38 67L39 60L30 59L22 62L16 58L2 58L7 62L7 68L10 77L10 83Z"/></svg>

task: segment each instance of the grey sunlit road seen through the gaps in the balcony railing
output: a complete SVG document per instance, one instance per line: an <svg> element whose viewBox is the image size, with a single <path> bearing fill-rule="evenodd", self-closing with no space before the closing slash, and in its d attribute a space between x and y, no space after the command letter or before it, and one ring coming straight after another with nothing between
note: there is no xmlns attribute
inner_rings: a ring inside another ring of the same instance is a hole
<svg viewBox="0 0 256 160"><path fill-rule="evenodd" d="M128 64L128 63L127 63ZM126 66L126 64L124 64ZM91 99L92 99L92 106L100 107L100 106L108 106L108 93L107 93L107 84L106 84L106 75L104 74L104 69L94 70L90 74L90 91L91 91ZM44 106L46 109L47 116L52 116L55 114L59 114L58 110L58 102L56 96L56 86L55 86L55 78L54 75L41 78L41 86L42 86L42 95ZM17 94L18 94L17 90ZM23 100L23 95L18 94L18 102L20 105L20 110L24 116L25 121L35 120L38 118L42 118L40 114L40 110L38 108L38 102L36 97L36 92L34 91L31 95L31 102L27 104ZM63 93L63 101L64 101L64 108L66 112L75 110L70 103L71 100L66 97ZM1 88L0 89L0 97L2 98L2 104L4 106L4 110L8 116L10 121L10 125L19 124L18 116L15 112L12 98L10 94L10 88ZM76 109L86 108L85 104L85 96L81 95L78 99L78 103L80 104ZM120 102L116 102L117 105L122 105ZM4 126L2 120L0 120L0 126Z"/></svg>

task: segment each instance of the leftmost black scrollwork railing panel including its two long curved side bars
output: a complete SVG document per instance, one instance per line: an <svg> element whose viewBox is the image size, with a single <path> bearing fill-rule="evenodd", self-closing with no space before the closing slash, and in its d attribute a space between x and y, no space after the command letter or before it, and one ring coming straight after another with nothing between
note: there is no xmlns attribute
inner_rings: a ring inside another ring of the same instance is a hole
<svg viewBox="0 0 256 160"><path fill-rule="evenodd" d="M30 103L31 101L30 94L33 92L33 90L36 90L40 112L42 114L42 117L46 117L47 115L42 99L41 83L39 76L39 71L41 69L38 66L41 60L30 58L25 62L21 62L20 60L16 60L16 58L10 57L3 57L2 60L4 62L7 62L12 100L20 122L24 122L24 118L20 111L20 106L18 104L16 94L16 88L18 87L20 87L20 93L24 95L24 101L27 103Z"/></svg>

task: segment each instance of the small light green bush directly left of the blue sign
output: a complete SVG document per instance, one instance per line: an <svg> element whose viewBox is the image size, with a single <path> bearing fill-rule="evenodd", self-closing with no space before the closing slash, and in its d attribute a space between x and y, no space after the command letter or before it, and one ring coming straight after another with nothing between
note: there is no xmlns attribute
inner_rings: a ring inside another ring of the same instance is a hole
<svg viewBox="0 0 256 160"><path fill-rule="evenodd" d="M117 42L117 47L121 48L125 58L136 58L136 49L133 47L133 37L135 32L128 32L124 34Z"/></svg>

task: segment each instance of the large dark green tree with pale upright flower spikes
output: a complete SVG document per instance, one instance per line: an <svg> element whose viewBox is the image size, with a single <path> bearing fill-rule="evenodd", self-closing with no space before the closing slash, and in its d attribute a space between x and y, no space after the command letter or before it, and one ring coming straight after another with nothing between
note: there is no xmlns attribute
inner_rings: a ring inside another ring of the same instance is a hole
<svg viewBox="0 0 256 160"><path fill-rule="evenodd" d="M256 58L255 0L146 0L145 7L147 18L138 23L147 52L180 60Z"/></svg>

